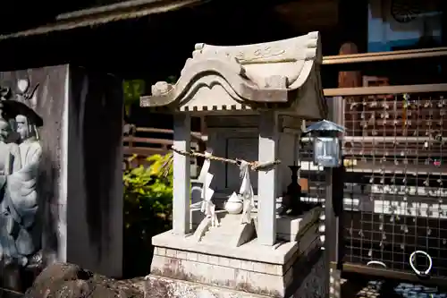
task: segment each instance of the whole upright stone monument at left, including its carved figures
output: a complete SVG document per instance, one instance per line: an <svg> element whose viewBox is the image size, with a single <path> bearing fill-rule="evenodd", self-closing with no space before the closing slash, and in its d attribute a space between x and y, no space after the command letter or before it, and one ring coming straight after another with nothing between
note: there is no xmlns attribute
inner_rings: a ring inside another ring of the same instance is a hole
<svg viewBox="0 0 447 298"><path fill-rule="evenodd" d="M33 175L24 175L20 171L30 163L13 159L22 166L12 168L17 174L8 178L4 190L20 189L17 185L31 189L22 195L13 192L12 202L2 201L4 208L24 210L0 218L0 235L4 236L0 238L8 240L0 242L0 255L8 259L6 263L18 260L13 263L21 267L36 267L40 260L44 264L64 261L88 266L108 277L122 277L122 122L116 121L122 118L122 81L104 72L64 64L0 72L0 86L11 88L11 99L26 98L21 101L30 104L44 122L35 136L39 144L34 140L25 143L25 136L18 135L25 130L18 128L26 128L26 119L8 115L15 118L10 119L15 120L11 126L17 129L8 138L8 147L22 139L19 150L26 154L21 158L36 157L30 152L41 149L41 160L37 175L34 170L26 172ZM2 159L2 168L3 163ZM24 177L31 178L30 182L23 181ZM14 230L13 237L1 231L8 226ZM20 250L13 250L14 246Z"/></svg>

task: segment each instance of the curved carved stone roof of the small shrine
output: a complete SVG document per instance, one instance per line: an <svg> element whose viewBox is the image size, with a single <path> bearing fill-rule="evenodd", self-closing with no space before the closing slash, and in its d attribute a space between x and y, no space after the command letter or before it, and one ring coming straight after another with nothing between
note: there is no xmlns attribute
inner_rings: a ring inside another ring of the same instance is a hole
<svg viewBox="0 0 447 298"><path fill-rule="evenodd" d="M141 106L180 111L241 110L274 106L324 118L318 32L244 46L197 44L175 84L159 81Z"/></svg>

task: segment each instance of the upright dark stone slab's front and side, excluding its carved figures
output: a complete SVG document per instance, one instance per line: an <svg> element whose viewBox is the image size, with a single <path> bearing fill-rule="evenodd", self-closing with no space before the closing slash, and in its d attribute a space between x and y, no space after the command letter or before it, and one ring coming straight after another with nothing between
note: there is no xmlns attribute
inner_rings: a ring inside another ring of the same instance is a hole
<svg viewBox="0 0 447 298"><path fill-rule="evenodd" d="M122 81L71 65L0 72L37 84L38 212L45 263L122 275Z"/></svg>

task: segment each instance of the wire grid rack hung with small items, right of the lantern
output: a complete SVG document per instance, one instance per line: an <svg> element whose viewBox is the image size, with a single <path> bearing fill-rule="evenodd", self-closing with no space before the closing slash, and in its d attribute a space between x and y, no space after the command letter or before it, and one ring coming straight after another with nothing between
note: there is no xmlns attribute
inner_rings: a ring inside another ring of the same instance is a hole
<svg viewBox="0 0 447 298"><path fill-rule="evenodd" d="M344 262L411 271L409 255L433 259L447 277L445 94L344 98ZM415 261L426 268L426 258Z"/></svg>

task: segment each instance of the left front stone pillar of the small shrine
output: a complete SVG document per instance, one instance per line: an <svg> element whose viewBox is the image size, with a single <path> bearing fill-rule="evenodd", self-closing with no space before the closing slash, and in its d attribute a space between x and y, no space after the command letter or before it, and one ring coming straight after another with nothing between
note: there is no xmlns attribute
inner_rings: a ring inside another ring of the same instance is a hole
<svg viewBox="0 0 447 298"><path fill-rule="evenodd" d="M173 147L190 151L190 115L176 114ZM173 233L190 232L190 157L173 152Z"/></svg>

